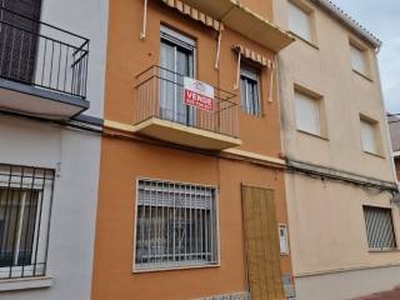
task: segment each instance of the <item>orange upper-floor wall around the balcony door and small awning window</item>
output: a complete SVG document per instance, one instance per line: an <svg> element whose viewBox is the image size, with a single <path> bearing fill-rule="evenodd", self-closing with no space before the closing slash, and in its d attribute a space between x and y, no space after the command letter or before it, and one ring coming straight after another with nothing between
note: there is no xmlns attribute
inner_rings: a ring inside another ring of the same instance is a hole
<svg viewBox="0 0 400 300"><path fill-rule="evenodd" d="M221 89L239 94L234 90L237 55L232 45L241 44L273 59L273 54L258 44L226 29L223 32L220 69L216 70L217 32L199 22L182 16L158 1L149 1L147 38L139 39L142 29L142 1L119 0L110 2L109 45L107 58L107 82L105 118L133 124L135 89L139 82L136 75L159 63L160 24L178 29L197 40L196 76L198 79ZM268 102L270 72L263 68L262 105L263 117L249 116L240 110L239 131L244 150L278 156L280 152L279 105ZM276 99L276 86L274 95ZM240 103L239 97L235 99ZM256 130L255 130L256 129Z"/></svg>

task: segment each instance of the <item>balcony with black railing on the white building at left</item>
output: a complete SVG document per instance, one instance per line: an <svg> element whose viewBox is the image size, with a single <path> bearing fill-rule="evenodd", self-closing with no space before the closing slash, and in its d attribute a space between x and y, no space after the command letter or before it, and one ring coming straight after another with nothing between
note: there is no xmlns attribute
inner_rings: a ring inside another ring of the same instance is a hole
<svg viewBox="0 0 400 300"><path fill-rule="evenodd" d="M89 40L0 8L0 110L66 120L86 101Z"/></svg>

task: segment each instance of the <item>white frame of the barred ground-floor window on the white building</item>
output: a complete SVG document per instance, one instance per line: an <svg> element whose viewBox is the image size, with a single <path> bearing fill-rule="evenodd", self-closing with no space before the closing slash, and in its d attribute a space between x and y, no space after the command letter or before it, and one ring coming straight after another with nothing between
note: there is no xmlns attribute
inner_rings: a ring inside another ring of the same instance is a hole
<svg viewBox="0 0 400 300"><path fill-rule="evenodd" d="M20 166L14 166L14 168L24 168ZM27 169L35 169L31 167L26 167ZM42 170L41 168L37 168ZM16 172L18 173L18 172ZM13 173L14 174L14 173ZM14 174L15 176L16 174ZM24 181L19 180L19 175L16 177L11 177L9 178L8 175L6 174L1 174L0 171L0 188L6 190L7 188L15 189L15 190L20 190L23 195L26 195L27 192L29 191L36 191L38 192L38 201L42 201L41 204L41 211L38 209L37 213L37 218L39 217L38 214L41 213L40 216L40 232L38 233L38 226L35 226L35 232L34 236L38 236L37 239L34 239L33 241L33 249L35 249L32 252L32 257L37 258L37 255L42 254L45 255L44 259L46 260L43 263L39 264L40 259L37 261L37 265L35 266L33 263L32 264L27 264L24 266L7 266L7 267L0 267L0 283L1 280L3 279L13 279L13 278L29 278L29 277L39 277L39 276L45 276L46 269L47 269L47 251L48 251L48 237L50 233L50 215L51 215L51 209L52 209L52 197L53 197L53 186L49 186L49 183L47 182L50 179L43 179L45 180L44 186L41 184L33 184L32 185L32 179L31 178L25 178ZM54 177L52 179L52 184L54 185ZM42 190L43 188L43 190ZM44 191L44 194L43 192ZM37 220L35 222L37 224ZM46 232L46 235L44 235L43 232ZM39 246L37 246L37 242L39 243ZM37 248L37 252L36 252ZM36 274L42 274L42 275L36 275ZM23 276L22 276L23 275Z"/></svg>

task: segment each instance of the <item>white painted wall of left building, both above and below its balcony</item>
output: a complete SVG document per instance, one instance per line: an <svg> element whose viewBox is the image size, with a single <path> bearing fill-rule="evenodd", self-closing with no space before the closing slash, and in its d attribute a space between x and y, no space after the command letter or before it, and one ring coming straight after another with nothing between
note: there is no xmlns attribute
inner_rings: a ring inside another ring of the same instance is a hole
<svg viewBox="0 0 400 300"><path fill-rule="evenodd" d="M42 21L90 39L87 100L91 107L85 114L101 118L108 1L43 0ZM50 225L47 275L53 277L53 285L0 292L0 299L90 299L100 145L100 136L94 134L0 116L0 163L61 167L55 178ZM0 290L1 285L0 280Z"/></svg>

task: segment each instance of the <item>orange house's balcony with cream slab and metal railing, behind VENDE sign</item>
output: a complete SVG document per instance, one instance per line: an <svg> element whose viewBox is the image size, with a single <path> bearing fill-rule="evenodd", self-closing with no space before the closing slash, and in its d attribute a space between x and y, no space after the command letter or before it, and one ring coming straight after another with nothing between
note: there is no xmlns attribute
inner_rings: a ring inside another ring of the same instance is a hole
<svg viewBox="0 0 400 300"><path fill-rule="evenodd" d="M152 66L139 74L137 80L135 133L206 150L241 145L234 94L208 86L214 95L207 107L187 105L185 76Z"/></svg>

